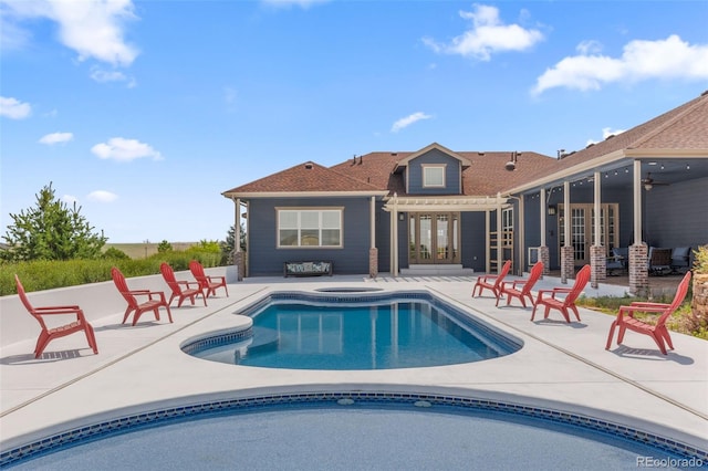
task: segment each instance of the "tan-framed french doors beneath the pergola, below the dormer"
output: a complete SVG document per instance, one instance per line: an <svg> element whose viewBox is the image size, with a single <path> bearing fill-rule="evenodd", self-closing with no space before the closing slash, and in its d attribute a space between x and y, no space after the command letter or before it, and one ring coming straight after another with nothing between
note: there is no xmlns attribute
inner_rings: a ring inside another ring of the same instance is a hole
<svg viewBox="0 0 708 471"><path fill-rule="evenodd" d="M408 263L459 263L459 212L408 213Z"/></svg>

